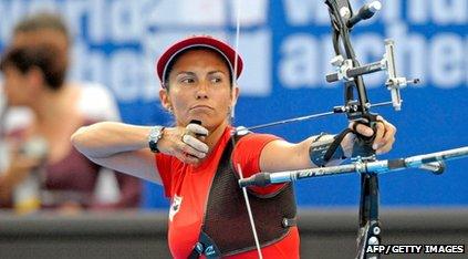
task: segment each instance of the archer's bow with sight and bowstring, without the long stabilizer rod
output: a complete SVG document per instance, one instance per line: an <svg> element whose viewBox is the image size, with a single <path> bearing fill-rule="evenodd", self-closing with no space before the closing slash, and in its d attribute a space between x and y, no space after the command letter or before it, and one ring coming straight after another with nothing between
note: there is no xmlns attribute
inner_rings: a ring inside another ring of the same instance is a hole
<svg viewBox="0 0 468 259"><path fill-rule="evenodd" d="M408 82L417 83L418 80L407 81L405 77L398 77L396 75L395 60L394 60L394 43L391 40L385 42L385 55L381 61L361 65L356 59L354 49L351 43L350 32L351 29L357 24L361 20L368 19L382 8L379 1L373 1L365 4L360 11L354 14L349 0L325 0L325 4L329 8L331 27L332 27L332 40L333 50L335 58L332 60L332 64L336 68L336 72L327 74L326 81L329 83L343 81L344 82L344 104L334 106L331 112L306 115L302 117L289 118L280 122L273 122L262 124L252 127L238 127L236 133L243 131L251 131L258 128L270 127L274 125L299 122L310 118L316 118L327 116L336 113L346 114L350 121L356 123L363 123L371 127L375 126L377 114L371 113L371 107L383 106L392 104L396 111L401 110L402 99L399 95L399 89L406 86ZM237 25L236 25L236 55L238 54L239 45L239 31L240 31L240 0L237 0ZM237 62L237 59L235 59ZM237 63L235 64L235 74L237 74ZM377 71L386 70L388 79L386 86L392 93L392 102L371 104L367 99L367 92L362 75ZM355 95L357 99L355 100ZM232 107L233 110L233 107ZM233 111L231 113L233 115ZM365 137L358 135L356 143L353 148L353 157L357 157L358 163L372 163L375 162L375 152L372 148L373 137ZM240 165L237 166L240 174L240 183L247 183L249 179L242 179L242 172ZM361 209L360 209L360 235L358 235L358 247L365 248L371 244L379 244L379 221L378 221L378 178L376 174L362 174L361 175ZM246 199L247 210L249 211L249 218L252 226L252 231L256 240L257 250L261 258L261 249L254 228L253 216L251 215L249 199L246 191L246 186L241 185L242 191ZM358 258L364 258L365 252L363 249L358 250Z"/></svg>

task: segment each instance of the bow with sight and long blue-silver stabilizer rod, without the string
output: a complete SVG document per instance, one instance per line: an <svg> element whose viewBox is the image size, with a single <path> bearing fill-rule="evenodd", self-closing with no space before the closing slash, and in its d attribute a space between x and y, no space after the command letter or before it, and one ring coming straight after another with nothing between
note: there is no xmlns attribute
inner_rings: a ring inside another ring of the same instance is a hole
<svg viewBox="0 0 468 259"><path fill-rule="evenodd" d="M327 116L336 113L346 114L349 121L375 126L377 114L371 112L371 107L392 104L395 111L402 107L402 97L399 90L408 83L418 83L419 80L407 80L397 76L395 63L395 44L392 40L385 41L385 54L381 61L361 65L356 59L355 52L350 39L351 30L362 20L370 19L375 12L381 10L379 1L372 1L363 6L357 13L353 13L349 0L325 0L329 8L332 43L335 58L332 59L332 65L336 72L327 74L329 83L342 81L344 84L344 104L334 106L331 112L306 115L301 117L288 118L284 121L267 123L252 127L238 127L237 131L258 130L274 125L299 122L310 118ZM386 87L391 92L391 102L371 104L367 99L366 87L362 75L378 71L387 72ZM355 99L356 96L356 99ZM435 174L444 170L444 160L465 157L468 155L468 147L444 151L434 154L413 156L408 158L377 160L372 148L373 137L365 137L357 134L353 148L354 163L343 166L313 168L295 172L281 173L261 173L247 179L240 179L240 187L249 185L264 186L274 183L287 183L295 179L336 175L343 173L361 174L361 203L360 203L360 231L357 236L357 256L356 258L378 258L378 253L367 252L366 248L381 244L381 224L378 219L378 174L403 168L417 167L428 169Z"/></svg>

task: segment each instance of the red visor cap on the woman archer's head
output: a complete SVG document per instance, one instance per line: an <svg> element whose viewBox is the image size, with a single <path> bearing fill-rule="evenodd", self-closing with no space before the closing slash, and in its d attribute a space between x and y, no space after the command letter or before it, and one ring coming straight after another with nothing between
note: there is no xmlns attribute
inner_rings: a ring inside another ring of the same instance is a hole
<svg viewBox="0 0 468 259"><path fill-rule="evenodd" d="M230 65L230 71L233 74L233 68L235 68L235 60L237 55L237 76L239 77L240 73L242 72L242 58L240 58L239 53L236 54L236 51L225 42L217 40L212 37L208 35L197 35L197 37L190 37L185 40L178 41L174 43L169 49L167 49L163 55L160 55L159 60L156 64L156 72L159 76L159 80L162 82L162 85L164 87L164 75L166 74L167 65L170 63L170 61L177 56L180 52L188 50L190 48L207 48L211 49L222 56L226 58L226 61L228 61Z"/></svg>

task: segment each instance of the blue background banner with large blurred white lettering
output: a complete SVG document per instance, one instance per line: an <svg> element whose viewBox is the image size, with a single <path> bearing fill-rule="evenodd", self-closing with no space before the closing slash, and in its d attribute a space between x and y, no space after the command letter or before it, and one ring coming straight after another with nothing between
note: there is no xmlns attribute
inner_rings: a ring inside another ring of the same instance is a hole
<svg viewBox="0 0 468 259"><path fill-rule="evenodd" d="M74 80L97 81L118 100L123 120L168 124L158 103L155 60L177 39L214 34L232 44L236 0L49 0L0 1L0 46L13 24L41 10L61 12L74 37ZM355 10L365 1L351 1ZM318 0L241 1L239 50L245 72L236 125L252 126L311 113L343 103L342 84L325 83L333 72L330 17ZM468 1L392 0L353 30L361 63L379 61L384 40L396 43L399 76L420 79L402 91L403 108L375 111L398 128L396 158L468 145ZM365 76L370 100L388 101L384 72ZM268 130L291 142L347 126L343 115ZM447 163L440 176L420 170L385 174L381 203L388 206L468 206L468 159ZM153 189L153 188L156 188ZM358 203L357 175L324 177L297 184L300 206L350 206ZM159 187L148 185L145 206L162 206Z"/></svg>

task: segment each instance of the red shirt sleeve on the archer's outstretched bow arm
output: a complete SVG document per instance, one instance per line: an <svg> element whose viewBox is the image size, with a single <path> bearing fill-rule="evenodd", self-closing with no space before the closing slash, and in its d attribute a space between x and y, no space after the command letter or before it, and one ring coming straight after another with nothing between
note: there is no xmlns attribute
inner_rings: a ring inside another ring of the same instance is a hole
<svg viewBox="0 0 468 259"><path fill-rule="evenodd" d="M270 134L249 134L242 137L237 144L232 154L233 168L239 174L238 165L242 169L243 178L250 177L257 173L260 173L260 155L263 147L272 142L281 139L278 136ZM251 186L250 190L260 195L268 196L279 191L284 184L274 184L266 187Z"/></svg>

